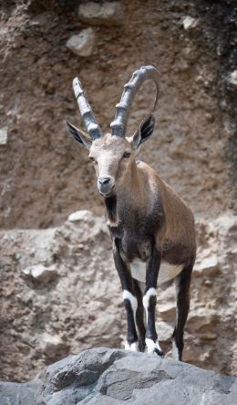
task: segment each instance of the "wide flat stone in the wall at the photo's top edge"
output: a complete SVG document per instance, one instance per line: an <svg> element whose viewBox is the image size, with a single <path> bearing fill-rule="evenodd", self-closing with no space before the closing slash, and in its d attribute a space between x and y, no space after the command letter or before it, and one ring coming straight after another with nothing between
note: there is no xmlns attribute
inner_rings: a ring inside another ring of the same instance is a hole
<svg viewBox="0 0 237 405"><path fill-rule="evenodd" d="M121 22L123 15L118 2L86 2L79 5L78 16L92 25L114 26Z"/></svg>

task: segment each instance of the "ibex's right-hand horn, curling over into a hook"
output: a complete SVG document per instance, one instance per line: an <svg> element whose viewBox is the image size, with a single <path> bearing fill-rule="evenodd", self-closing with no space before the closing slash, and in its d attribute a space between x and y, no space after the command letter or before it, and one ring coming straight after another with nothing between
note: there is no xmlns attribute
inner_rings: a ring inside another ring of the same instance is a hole
<svg viewBox="0 0 237 405"><path fill-rule="evenodd" d="M145 80L149 79L154 80L156 85L156 98L152 111L156 109L159 95L160 73L158 69L154 68L154 66L142 66L139 70L136 70L133 73L129 83L124 85L121 100L116 105L115 119L110 123L112 135L125 136L132 101L140 86Z"/></svg>

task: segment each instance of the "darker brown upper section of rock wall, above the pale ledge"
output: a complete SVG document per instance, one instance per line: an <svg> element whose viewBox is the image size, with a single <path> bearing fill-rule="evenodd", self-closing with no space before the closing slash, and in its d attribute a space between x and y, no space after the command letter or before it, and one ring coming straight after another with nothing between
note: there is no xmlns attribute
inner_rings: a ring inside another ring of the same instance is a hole
<svg viewBox="0 0 237 405"><path fill-rule="evenodd" d="M4 228L46 228L85 208L101 213L87 151L67 136L79 123L71 83L79 75L104 130L123 84L141 65L160 68L157 128L142 157L195 213L215 217L234 205L235 8L231 2L119 2L105 24L85 18L88 2L27 1L1 6L0 220ZM98 5L101 2L96 2ZM99 13L98 13L99 15ZM104 18L105 19L105 18ZM89 56L67 41L93 29ZM129 133L152 105L147 84L134 103Z"/></svg>

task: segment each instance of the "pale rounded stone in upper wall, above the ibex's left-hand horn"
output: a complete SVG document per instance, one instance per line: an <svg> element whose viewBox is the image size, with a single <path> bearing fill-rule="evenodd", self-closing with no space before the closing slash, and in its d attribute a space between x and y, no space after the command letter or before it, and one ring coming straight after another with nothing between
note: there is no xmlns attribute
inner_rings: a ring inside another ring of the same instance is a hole
<svg viewBox="0 0 237 405"><path fill-rule="evenodd" d="M77 56L88 57L93 52L95 38L93 28L83 29L79 34L70 37L66 46Z"/></svg>

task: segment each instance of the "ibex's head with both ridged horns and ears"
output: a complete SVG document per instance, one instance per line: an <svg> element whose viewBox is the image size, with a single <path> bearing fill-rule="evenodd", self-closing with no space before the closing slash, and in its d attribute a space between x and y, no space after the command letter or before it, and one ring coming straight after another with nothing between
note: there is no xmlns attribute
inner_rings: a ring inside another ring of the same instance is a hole
<svg viewBox="0 0 237 405"><path fill-rule="evenodd" d="M73 89L80 113L87 126L88 133L77 129L67 122L69 133L74 139L89 149L89 157L95 165L98 176L98 190L104 197L110 197L116 192L128 173L129 166L135 160L140 144L145 142L153 132L155 119L149 114L143 120L138 131L126 137L131 103L145 80L152 79L156 84L156 99L153 110L158 101L159 72L152 66L136 70L129 83L125 84L120 102L117 104L116 116L110 124L111 133L103 135L90 105L86 99L78 78L73 80Z"/></svg>

